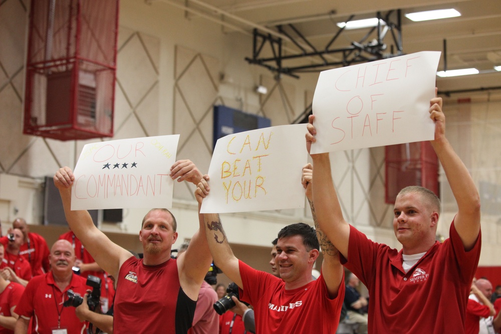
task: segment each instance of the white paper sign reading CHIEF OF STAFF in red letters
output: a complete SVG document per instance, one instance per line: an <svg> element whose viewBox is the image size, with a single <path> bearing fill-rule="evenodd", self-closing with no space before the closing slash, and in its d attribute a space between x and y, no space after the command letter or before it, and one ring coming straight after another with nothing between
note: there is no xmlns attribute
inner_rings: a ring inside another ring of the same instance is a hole
<svg viewBox="0 0 501 334"><path fill-rule="evenodd" d="M430 100L440 52L418 52L320 73L311 153L433 140Z"/></svg>

